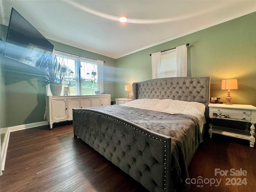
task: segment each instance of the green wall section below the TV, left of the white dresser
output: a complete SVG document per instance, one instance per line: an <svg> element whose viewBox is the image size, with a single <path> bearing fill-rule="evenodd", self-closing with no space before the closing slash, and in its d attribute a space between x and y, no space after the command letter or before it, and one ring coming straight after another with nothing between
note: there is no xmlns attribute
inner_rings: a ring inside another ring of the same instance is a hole
<svg viewBox="0 0 256 192"><path fill-rule="evenodd" d="M44 121L45 75L39 69L1 56L5 127Z"/></svg>

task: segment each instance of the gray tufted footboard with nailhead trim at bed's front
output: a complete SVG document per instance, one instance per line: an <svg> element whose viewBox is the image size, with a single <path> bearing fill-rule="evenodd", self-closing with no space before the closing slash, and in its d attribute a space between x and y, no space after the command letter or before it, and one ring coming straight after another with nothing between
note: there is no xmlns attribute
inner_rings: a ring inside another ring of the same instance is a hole
<svg viewBox="0 0 256 192"><path fill-rule="evenodd" d="M130 121L73 109L74 135L151 192L170 192L171 138Z"/></svg>

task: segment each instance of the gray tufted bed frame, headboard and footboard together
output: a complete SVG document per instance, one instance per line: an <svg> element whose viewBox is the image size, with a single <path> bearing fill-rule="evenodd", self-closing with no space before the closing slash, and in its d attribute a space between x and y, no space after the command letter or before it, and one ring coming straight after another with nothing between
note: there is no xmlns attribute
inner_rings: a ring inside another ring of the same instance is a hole
<svg viewBox="0 0 256 192"><path fill-rule="evenodd" d="M162 78L134 83L135 99L209 102L210 77ZM104 122L104 123L103 123ZM97 126L95 126L97 124ZM151 192L173 192L171 138L117 116L73 109L74 136L140 182Z"/></svg>

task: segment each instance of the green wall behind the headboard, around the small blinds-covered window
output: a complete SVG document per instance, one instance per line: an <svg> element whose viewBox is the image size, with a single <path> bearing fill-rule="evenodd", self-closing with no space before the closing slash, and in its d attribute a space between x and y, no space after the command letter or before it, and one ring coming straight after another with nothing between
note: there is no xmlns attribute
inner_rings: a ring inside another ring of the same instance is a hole
<svg viewBox="0 0 256 192"><path fill-rule="evenodd" d="M238 90L231 90L232 102L256 106L256 12L116 59L116 96L126 96L126 84L152 78L149 54L186 43L188 76L210 76L211 97L226 102L221 81L236 78Z"/></svg>

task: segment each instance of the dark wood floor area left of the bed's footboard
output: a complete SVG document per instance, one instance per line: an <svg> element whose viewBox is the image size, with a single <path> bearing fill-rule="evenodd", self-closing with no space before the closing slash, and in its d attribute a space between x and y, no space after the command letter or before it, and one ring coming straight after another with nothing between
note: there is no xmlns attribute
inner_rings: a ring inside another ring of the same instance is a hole
<svg viewBox="0 0 256 192"><path fill-rule="evenodd" d="M1 192L147 191L138 182L74 138L73 126L12 132Z"/></svg>

